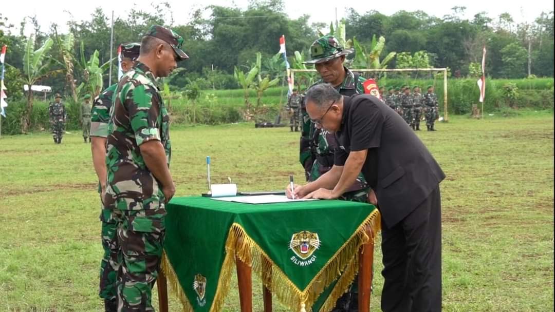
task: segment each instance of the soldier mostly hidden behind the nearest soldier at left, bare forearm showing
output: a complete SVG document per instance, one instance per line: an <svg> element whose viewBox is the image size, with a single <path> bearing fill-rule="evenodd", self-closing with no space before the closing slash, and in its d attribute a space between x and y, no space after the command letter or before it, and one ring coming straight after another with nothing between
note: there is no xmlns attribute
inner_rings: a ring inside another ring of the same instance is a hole
<svg viewBox="0 0 555 312"><path fill-rule="evenodd" d="M139 57L139 43L128 43L122 45L121 67L123 73L127 73L133 67L133 62ZM94 170L98 176L98 193L100 196L106 190L106 138L108 136L108 121L110 120L110 108L112 98L118 84L109 86L94 99L92 108L92 121L90 136L92 137L91 151L93 155ZM100 205L100 221L102 222L102 248L104 256L100 263L100 298L104 299L104 308L107 312L117 311L118 291L117 274L119 269L118 259L118 237L115 216L112 209L104 209Z"/></svg>

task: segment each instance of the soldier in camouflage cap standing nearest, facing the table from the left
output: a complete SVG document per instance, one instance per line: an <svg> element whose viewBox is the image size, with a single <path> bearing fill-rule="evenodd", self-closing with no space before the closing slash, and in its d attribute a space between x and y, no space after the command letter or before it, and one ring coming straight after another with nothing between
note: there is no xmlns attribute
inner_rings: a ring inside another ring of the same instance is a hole
<svg viewBox="0 0 555 312"><path fill-rule="evenodd" d="M172 30L150 27L137 62L114 94L103 203L113 209L118 229L118 311L154 311L152 287L164 245L165 204L175 194L169 115L156 79L189 58L182 44Z"/></svg>

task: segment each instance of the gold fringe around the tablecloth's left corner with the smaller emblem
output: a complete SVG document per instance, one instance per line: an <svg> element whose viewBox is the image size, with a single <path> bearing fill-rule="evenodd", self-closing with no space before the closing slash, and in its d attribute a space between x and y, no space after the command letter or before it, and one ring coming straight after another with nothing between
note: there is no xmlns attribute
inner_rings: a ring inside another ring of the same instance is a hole
<svg viewBox="0 0 555 312"><path fill-rule="evenodd" d="M224 263L222 264L220 270L220 276L218 280L218 287L216 288L216 294L214 295L214 301L212 301L212 305L210 307L211 312L221 311L224 308L225 298L228 296L230 282L231 282L231 274L234 272L234 257L233 254L226 253L224 258ZM179 280L177 278L177 274L171 263L169 262L168 256L164 252L162 255L162 263L160 264L162 267L162 271L166 276L166 280L168 280L168 284L170 285L171 291L173 294L179 298L181 301L181 305L183 306L183 312L193 312L193 306L189 303L183 288L179 284ZM192 287L191 283L191 287Z"/></svg>

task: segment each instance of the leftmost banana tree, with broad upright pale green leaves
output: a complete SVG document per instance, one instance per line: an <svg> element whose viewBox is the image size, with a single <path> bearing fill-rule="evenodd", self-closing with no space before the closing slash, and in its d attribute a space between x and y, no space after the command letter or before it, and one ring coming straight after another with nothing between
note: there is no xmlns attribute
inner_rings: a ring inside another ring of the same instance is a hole
<svg viewBox="0 0 555 312"><path fill-rule="evenodd" d="M26 133L31 125L31 113L33 111L33 91L31 90L31 86L42 78L46 78L60 71L51 69L52 59L48 56L53 44L54 40L48 38L41 48L34 50L35 39L33 35L29 36L29 39L27 39L25 53L23 55L23 79L29 88L27 90L27 106L21 122L21 130L23 133Z"/></svg>

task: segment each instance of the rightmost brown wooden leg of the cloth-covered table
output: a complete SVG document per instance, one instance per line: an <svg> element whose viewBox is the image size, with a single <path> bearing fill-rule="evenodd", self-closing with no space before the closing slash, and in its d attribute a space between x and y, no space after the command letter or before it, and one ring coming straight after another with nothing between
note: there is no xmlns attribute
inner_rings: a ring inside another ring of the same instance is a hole
<svg viewBox="0 0 555 312"><path fill-rule="evenodd" d="M361 246L359 251L359 312L370 311L372 288L372 265L374 265L374 233L367 228L370 242Z"/></svg>

